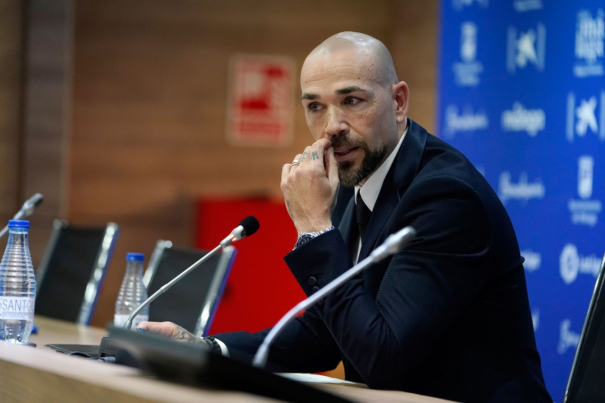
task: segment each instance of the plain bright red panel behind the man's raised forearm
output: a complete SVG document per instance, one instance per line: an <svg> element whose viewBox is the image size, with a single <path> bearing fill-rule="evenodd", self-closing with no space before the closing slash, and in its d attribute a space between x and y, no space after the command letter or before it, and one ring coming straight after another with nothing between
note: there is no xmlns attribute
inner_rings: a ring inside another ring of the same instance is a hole
<svg viewBox="0 0 605 403"><path fill-rule="evenodd" d="M292 250L296 230L283 203L259 199L204 199L198 203L197 247L212 249L247 215L260 229L234 244L235 264L210 333L273 326L305 295L283 257Z"/></svg>

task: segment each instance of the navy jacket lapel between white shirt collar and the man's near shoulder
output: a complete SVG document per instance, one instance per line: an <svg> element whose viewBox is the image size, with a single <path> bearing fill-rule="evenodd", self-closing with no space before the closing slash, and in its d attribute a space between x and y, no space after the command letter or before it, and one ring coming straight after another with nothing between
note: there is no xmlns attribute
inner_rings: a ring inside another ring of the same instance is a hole
<svg viewBox="0 0 605 403"><path fill-rule="evenodd" d="M379 238L389 235L382 234L383 236L379 237L381 232L384 232L383 229L388 218L391 217L393 210L399 203L399 198L416 177L424 145L427 141L427 131L411 119L408 119L408 123L408 133L405 135L404 142L399 148L399 152L397 152L397 157L395 157L376 199L368 228L365 230L365 239L361 244L358 261L368 257ZM349 208L352 208L352 212L355 210L354 206L349 206Z"/></svg>

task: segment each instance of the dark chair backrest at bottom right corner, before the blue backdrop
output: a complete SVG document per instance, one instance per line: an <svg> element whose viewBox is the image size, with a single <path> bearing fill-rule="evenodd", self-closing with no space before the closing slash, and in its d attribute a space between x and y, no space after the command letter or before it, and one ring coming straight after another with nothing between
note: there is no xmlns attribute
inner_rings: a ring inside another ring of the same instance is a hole
<svg viewBox="0 0 605 403"><path fill-rule="evenodd" d="M590 298L564 403L605 402L605 256Z"/></svg>

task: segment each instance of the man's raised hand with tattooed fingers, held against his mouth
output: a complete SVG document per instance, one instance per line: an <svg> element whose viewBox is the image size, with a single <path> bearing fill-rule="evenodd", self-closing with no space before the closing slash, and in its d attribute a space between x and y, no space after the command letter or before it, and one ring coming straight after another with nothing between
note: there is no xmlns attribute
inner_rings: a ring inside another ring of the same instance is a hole
<svg viewBox="0 0 605 403"><path fill-rule="evenodd" d="M319 139L295 159L300 165L289 163L281 171L281 191L288 214L298 234L321 231L332 226L330 214L339 185L332 143Z"/></svg>

